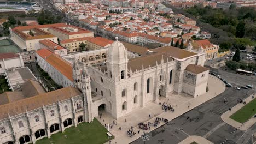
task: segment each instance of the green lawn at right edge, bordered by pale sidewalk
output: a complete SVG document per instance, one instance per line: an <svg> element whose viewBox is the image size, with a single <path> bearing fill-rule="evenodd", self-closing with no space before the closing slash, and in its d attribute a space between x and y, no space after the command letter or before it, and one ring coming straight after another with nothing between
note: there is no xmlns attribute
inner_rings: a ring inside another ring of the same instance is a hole
<svg viewBox="0 0 256 144"><path fill-rule="evenodd" d="M231 115L230 118L234 119L237 122L245 123L254 114L256 114L256 99L243 106L240 110Z"/></svg>

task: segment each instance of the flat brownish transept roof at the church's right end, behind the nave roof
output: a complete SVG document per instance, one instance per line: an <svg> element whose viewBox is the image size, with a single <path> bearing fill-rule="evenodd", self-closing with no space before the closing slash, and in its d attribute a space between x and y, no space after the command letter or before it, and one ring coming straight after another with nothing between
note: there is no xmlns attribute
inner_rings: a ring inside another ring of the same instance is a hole
<svg viewBox="0 0 256 144"><path fill-rule="evenodd" d="M157 52L157 53L166 52L166 55L173 58L178 58L178 59L183 59L183 58L197 55L194 52L186 51L173 46L159 47L156 49L150 49L150 51Z"/></svg>

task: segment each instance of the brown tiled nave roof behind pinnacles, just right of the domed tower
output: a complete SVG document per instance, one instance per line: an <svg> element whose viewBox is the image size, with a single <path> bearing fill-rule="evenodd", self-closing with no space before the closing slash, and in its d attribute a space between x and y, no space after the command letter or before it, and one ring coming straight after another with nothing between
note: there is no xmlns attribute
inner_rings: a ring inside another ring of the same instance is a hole
<svg viewBox="0 0 256 144"><path fill-rule="evenodd" d="M168 58L168 56L166 55L166 52L154 53L154 54L145 55L142 57L132 58L132 59L129 59L128 69L131 69L132 71L141 70L142 65L144 68L149 68L149 66L153 67L156 65L156 62L160 64L162 58L166 63ZM171 59L172 59L171 57L168 58L168 61L171 61Z"/></svg>

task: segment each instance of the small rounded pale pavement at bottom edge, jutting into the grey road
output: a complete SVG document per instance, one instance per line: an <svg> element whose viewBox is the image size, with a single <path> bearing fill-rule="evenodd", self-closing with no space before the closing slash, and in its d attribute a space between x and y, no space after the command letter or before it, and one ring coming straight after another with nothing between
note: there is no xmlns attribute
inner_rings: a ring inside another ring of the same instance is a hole
<svg viewBox="0 0 256 144"><path fill-rule="evenodd" d="M192 142L196 142L198 144L213 144L211 141L208 141L205 138L197 135L191 135L187 137L187 139L179 142L179 144L191 144Z"/></svg>

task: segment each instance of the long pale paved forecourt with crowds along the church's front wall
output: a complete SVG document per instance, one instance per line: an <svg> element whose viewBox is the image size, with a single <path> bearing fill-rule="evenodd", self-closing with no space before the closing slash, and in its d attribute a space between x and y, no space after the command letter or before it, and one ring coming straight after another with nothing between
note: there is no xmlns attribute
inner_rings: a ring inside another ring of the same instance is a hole
<svg viewBox="0 0 256 144"><path fill-rule="evenodd" d="M225 85L222 81L220 81L217 77L209 75L208 79L208 87L209 91L201 95L197 98L189 97L188 95L169 95L165 99L161 99L160 101L164 101L166 99L169 99L168 104L175 105L177 104L177 107L174 107L175 112L164 112L161 109L161 105L158 105L156 103L149 103L147 106L143 109L138 109L135 112L129 113L128 115L118 118L117 122L118 125L114 125L112 129L110 129L110 133L112 133L115 136L115 139L112 140L112 143L117 142L119 143L131 143L132 141L135 141L141 137L141 134L143 134L143 131L150 132L154 129L157 129L164 125L164 122L160 122L158 127L152 127L150 130L140 130L141 133L138 134L138 123L139 122L154 122L156 117L163 117L168 119L168 121L171 121L174 118L177 118L178 116L181 116L183 113L188 112L195 107L201 105L202 103L205 103L206 101L216 97L216 95L219 95L220 93L225 91ZM215 94L216 93L216 94ZM158 103L158 102L157 102ZM188 103L190 103L190 108L188 108ZM151 113L152 118L149 119L149 113ZM99 119L99 118L97 118ZM107 118L106 118L107 119ZM99 121L104 125L107 123L112 124L113 119L108 117L108 121L105 119L105 123L103 123L103 119L99 119ZM125 122L125 119L127 119L127 122ZM144 121L142 121L144 119ZM133 131L135 131L136 135L133 137L128 137L126 135L126 130L130 129L130 127L133 126ZM119 127L122 127L122 130L119 130ZM108 144L109 142L106 142Z"/></svg>

